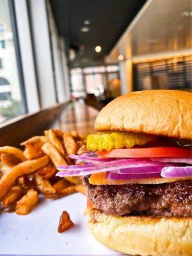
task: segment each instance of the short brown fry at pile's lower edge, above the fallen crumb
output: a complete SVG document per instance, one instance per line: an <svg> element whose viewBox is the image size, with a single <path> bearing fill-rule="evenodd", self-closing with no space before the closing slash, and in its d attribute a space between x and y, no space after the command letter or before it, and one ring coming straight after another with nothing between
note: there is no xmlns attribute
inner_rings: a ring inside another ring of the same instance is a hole
<svg viewBox="0 0 192 256"><path fill-rule="evenodd" d="M34 179L36 183L36 188L38 188L38 190L44 195L56 193L56 189L52 187L49 180L44 180L44 178L38 175L38 173L35 173Z"/></svg>

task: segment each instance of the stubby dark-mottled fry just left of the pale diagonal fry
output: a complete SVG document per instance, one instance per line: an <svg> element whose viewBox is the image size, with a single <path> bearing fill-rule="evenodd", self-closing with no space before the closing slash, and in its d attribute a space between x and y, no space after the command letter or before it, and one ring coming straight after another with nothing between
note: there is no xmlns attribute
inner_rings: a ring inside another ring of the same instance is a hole
<svg viewBox="0 0 192 256"><path fill-rule="evenodd" d="M45 156L45 153L42 151L41 146L31 145L30 143L27 143L24 149L24 156L26 157L26 159L31 160Z"/></svg>

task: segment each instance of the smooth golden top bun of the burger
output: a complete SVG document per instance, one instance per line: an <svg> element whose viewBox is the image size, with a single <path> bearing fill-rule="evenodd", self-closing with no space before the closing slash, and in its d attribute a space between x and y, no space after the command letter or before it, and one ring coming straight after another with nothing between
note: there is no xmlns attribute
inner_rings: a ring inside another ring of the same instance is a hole
<svg viewBox="0 0 192 256"><path fill-rule="evenodd" d="M191 140L191 93L145 90L109 102L95 120L96 131L126 131Z"/></svg>

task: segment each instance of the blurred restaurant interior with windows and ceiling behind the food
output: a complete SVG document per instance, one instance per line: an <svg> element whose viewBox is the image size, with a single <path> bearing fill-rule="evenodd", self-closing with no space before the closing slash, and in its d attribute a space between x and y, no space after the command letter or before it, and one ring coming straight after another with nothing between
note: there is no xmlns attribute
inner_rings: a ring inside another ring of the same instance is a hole
<svg viewBox="0 0 192 256"><path fill-rule="evenodd" d="M191 0L0 0L0 123L68 100L191 90Z"/></svg>

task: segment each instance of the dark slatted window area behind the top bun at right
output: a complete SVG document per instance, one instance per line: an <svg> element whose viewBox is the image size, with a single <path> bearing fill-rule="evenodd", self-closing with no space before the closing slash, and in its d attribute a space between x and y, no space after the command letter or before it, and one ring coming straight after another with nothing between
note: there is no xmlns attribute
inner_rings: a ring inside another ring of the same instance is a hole
<svg viewBox="0 0 192 256"><path fill-rule="evenodd" d="M134 64L134 90L190 90L191 65L191 56Z"/></svg>

